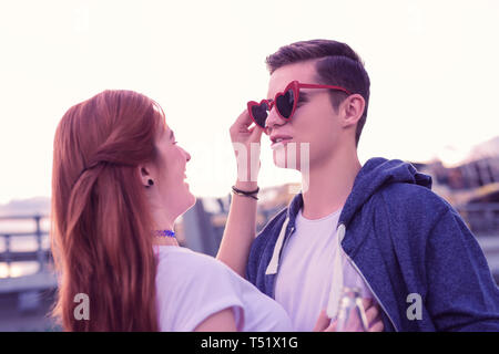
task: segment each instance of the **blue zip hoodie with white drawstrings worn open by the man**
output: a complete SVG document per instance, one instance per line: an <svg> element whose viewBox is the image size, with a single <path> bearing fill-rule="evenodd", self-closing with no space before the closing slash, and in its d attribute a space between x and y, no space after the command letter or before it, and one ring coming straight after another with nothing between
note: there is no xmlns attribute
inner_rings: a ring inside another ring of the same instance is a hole
<svg viewBox="0 0 499 354"><path fill-rule="evenodd" d="M271 298L302 206L299 194L252 244L247 279ZM380 304L385 331L499 331L499 288L483 252L458 212L431 191L430 176L398 159L369 159L338 228L344 253ZM408 315L414 293L422 300L420 319Z"/></svg>

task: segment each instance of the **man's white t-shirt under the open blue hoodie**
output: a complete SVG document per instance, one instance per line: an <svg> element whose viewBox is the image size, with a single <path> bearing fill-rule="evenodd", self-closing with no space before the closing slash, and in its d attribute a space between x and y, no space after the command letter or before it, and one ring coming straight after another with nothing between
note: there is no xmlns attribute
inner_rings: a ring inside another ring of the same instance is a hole
<svg viewBox="0 0 499 354"><path fill-rule="evenodd" d="M275 283L275 299L292 319L295 331L312 331L320 310L327 308L333 266L338 251L336 227L342 209L317 220L299 210L295 232L284 244ZM343 258L344 285L359 288L361 298L373 298L361 277Z"/></svg>

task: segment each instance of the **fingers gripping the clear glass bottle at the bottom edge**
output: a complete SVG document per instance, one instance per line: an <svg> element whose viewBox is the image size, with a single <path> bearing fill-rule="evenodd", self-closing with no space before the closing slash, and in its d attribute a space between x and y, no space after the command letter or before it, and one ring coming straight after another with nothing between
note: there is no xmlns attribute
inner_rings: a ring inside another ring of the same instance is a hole
<svg viewBox="0 0 499 354"><path fill-rule="evenodd" d="M383 332L385 326L381 321L380 309L375 304L373 299L363 299L363 305L366 312L367 323L369 324L369 332ZM363 325L356 316L350 317L346 325L345 332L363 332ZM320 311L320 314L315 323L314 332L336 332L337 320L333 323L326 314L326 310Z"/></svg>

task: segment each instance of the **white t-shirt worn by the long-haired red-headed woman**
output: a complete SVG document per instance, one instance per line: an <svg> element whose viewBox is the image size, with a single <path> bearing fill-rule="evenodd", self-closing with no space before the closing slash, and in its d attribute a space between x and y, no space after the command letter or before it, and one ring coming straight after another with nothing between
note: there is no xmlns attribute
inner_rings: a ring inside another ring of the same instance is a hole
<svg viewBox="0 0 499 354"><path fill-rule="evenodd" d="M213 257L176 246L155 248L160 331L191 332L232 308L237 331L292 331L284 309Z"/></svg>

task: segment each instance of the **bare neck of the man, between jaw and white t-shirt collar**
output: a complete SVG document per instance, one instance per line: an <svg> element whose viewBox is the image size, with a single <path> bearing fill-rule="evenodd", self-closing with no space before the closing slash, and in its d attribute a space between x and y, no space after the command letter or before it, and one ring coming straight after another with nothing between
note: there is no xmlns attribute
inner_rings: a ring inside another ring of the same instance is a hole
<svg viewBox="0 0 499 354"><path fill-rule="evenodd" d="M315 165L310 166L308 187L303 192L302 214L310 220L324 218L345 205L361 168L356 150L337 152L330 159Z"/></svg>

